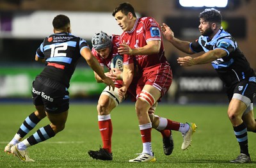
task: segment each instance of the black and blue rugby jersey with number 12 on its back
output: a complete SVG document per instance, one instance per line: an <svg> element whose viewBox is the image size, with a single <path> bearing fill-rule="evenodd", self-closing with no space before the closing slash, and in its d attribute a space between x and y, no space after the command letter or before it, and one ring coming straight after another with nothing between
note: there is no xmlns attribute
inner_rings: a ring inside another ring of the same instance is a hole
<svg viewBox="0 0 256 168"><path fill-rule="evenodd" d="M40 75L56 80L68 88L84 47L89 48L86 40L71 33L57 33L46 37L36 50L38 57L46 59L46 66Z"/></svg>

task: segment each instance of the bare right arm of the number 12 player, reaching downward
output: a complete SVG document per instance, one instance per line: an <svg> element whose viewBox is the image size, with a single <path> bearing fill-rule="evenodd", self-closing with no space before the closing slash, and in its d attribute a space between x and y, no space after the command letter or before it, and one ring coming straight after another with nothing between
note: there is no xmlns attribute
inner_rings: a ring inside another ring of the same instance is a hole
<svg viewBox="0 0 256 168"><path fill-rule="evenodd" d="M109 89L110 87L112 87L114 90L115 84L109 77L106 77L98 60L92 55L91 50L88 47L84 47L83 49L81 49L81 55L84 57L84 59L86 60L88 65L92 68L92 70L96 72L97 75L99 75L99 77L102 79L102 82L107 84L109 86Z"/></svg>

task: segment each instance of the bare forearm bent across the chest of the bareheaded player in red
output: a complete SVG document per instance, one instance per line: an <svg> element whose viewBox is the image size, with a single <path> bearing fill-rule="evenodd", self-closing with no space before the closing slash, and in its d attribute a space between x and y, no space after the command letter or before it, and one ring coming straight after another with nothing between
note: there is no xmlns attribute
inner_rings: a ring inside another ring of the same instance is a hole
<svg viewBox="0 0 256 168"><path fill-rule="evenodd" d="M132 49L125 43L125 41L120 44L118 48L118 53L120 54L128 54L128 55L150 55L150 54L157 54L161 47L161 41L159 40L152 40L147 42L147 45L144 47L134 48Z"/></svg>

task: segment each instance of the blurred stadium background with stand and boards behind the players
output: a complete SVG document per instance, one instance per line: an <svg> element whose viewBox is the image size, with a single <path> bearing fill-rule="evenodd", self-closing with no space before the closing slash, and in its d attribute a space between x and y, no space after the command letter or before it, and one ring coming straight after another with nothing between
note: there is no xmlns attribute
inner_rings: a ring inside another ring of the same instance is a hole
<svg viewBox="0 0 256 168"><path fill-rule="evenodd" d="M252 0L143 0L128 1L140 17L154 17L165 22L177 38L194 41L198 31L198 15L205 8L214 8L223 15L223 27L236 38L251 66L256 69L256 1ZM31 82L44 65L36 63L35 51L45 36L52 34L52 19L58 14L70 17L72 33L84 38L92 48L91 38L99 32L121 34L122 30L111 15L115 6L124 1L87 0L0 0L0 101L6 98L31 98ZM216 7L227 3L225 7ZM214 4L216 3L216 4ZM195 7L196 6L196 7ZM177 57L186 54L164 40L166 57L173 69L173 84L164 96L166 102L226 103L223 84L211 65L182 68ZM86 61L80 60L70 82L72 98L98 98L104 84L97 84Z"/></svg>

